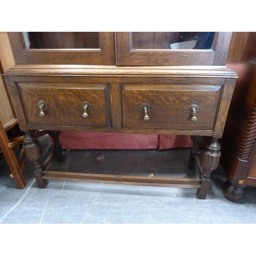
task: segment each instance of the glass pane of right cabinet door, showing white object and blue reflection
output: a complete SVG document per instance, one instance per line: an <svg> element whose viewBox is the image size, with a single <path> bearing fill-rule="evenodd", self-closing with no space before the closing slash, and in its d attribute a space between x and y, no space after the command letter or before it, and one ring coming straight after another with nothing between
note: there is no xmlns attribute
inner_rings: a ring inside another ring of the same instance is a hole
<svg viewBox="0 0 256 256"><path fill-rule="evenodd" d="M212 49L215 32L132 32L132 49Z"/></svg>

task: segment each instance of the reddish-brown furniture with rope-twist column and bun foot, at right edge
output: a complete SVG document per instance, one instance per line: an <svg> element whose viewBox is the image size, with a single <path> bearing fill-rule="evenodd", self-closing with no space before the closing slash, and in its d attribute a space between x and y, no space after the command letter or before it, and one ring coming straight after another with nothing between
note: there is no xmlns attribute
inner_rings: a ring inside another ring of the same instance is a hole
<svg viewBox="0 0 256 256"><path fill-rule="evenodd" d="M256 186L256 33L234 32L228 67L239 75L222 139L221 165L228 181L224 195L243 197L245 187Z"/></svg>

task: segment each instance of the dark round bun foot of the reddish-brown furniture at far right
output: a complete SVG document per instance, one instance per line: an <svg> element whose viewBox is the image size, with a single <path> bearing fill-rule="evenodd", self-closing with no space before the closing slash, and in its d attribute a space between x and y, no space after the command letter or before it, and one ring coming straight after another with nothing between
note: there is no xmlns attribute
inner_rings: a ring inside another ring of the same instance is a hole
<svg viewBox="0 0 256 256"><path fill-rule="evenodd" d="M224 184L223 193L226 199L230 201L238 201L244 196L245 188L246 185L244 184L236 184L226 181Z"/></svg>

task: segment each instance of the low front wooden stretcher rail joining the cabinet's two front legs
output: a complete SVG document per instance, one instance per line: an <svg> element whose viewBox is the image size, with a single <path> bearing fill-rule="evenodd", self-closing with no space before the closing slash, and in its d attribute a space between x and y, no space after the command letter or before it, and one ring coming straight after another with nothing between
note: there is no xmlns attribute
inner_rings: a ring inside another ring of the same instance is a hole
<svg viewBox="0 0 256 256"><path fill-rule="evenodd" d="M54 170L45 170L42 172L42 178L47 180L69 180L85 181L92 183L110 183L141 186L162 186L162 187L186 187L200 188L201 179L197 178L160 178L160 177L140 177L124 175L105 175L105 174L84 174L57 172Z"/></svg>

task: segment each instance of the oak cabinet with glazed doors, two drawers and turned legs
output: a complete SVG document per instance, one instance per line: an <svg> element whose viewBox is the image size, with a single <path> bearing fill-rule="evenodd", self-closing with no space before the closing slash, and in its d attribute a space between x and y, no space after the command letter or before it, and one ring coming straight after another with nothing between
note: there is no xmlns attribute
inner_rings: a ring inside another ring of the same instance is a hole
<svg viewBox="0 0 256 256"><path fill-rule="evenodd" d="M100 49L89 50L30 50L22 33L8 33L16 65L6 72L5 81L26 133L24 149L35 166L38 187L45 188L51 179L194 187L199 199L206 198L210 173L219 164L218 139L237 79L225 67L231 33L215 33L208 50L160 48L157 42L166 32L148 34L155 44L146 49L146 34L136 33L100 32ZM49 131L59 160L63 158L57 138L61 130L191 135L194 147L189 166L197 169L198 178L48 170L39 161L33 129ZM212 141L200 158L198 145L203 136L212 136Z"/></svg>

